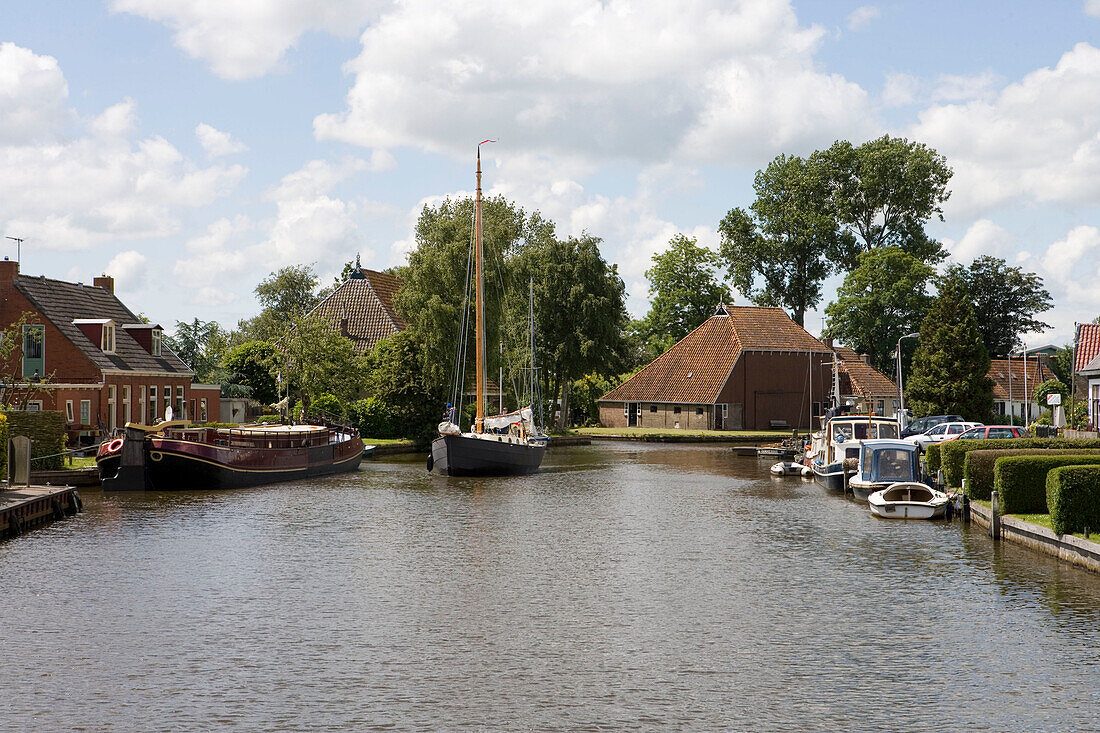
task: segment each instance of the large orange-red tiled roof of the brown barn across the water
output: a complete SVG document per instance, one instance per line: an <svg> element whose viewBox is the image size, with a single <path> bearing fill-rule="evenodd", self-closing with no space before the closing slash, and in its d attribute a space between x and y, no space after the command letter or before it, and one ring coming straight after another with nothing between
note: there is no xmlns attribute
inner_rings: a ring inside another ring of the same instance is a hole
<svg viewBox="0 0 1100 733"><path fill-rule="evenodd" d="M782 308L726 306L601 401L713 403L743 351L828 353Z"/></svg>

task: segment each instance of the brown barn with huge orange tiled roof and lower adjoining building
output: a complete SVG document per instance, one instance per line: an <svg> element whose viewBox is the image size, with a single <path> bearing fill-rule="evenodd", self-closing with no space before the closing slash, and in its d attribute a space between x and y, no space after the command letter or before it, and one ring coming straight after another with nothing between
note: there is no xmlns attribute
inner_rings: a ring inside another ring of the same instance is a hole
<svg viewBox="0 0 1100 733"><path fill-rule="evenodd" d="M851 349L834 351L782 308L722 306L601 397L600 424L685 430L817 427L833 393L834 353L843 398L877 414L892 408L893 382Z"/></svg>

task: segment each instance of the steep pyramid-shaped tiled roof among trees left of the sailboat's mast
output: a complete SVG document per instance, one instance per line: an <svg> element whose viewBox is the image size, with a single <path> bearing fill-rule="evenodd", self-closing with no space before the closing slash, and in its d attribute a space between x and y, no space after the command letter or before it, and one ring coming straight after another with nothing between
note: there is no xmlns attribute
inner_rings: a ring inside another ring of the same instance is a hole
<svg viewBox="0 0 1100 733"><path fill-rule="evenodd" d="M366 353L381 339L405 329L405 321L394 307L394 294L402 286L395 275L362 270L363 277L350 277L312 310L333 328L348 319L348 338L355 349Z"/></svg>

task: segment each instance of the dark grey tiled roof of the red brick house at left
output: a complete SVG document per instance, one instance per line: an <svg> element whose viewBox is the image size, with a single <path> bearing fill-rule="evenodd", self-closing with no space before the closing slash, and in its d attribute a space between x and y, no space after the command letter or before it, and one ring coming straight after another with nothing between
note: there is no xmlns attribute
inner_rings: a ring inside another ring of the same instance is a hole
<svg viewBox="0 0 1100 733"><path fill-rule="evenodd" d="M122 326L140 324L141 319L102 287L66 283L50 277L25 276L16 277L14 284L38 311L99 369L193 373L167 347L162 348L162 355L154 357L138 343ZM113 320L118 326L114 329L114 353L103 353L98 343L92 343L91 339L73 324L76 318Z"/></svg>

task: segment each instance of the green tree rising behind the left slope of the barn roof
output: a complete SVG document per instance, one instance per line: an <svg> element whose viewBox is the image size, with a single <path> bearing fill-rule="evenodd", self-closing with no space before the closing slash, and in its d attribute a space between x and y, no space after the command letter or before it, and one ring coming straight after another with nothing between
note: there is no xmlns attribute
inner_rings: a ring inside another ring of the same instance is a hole
<svg viewBox="0 0 1100 733"><path fill-rule="evenodd" d="M639 329L647 338L675 343L729 303L729 288L717 277L718 255L694 237L675 234L646 271L650 307Z"/></svg>

